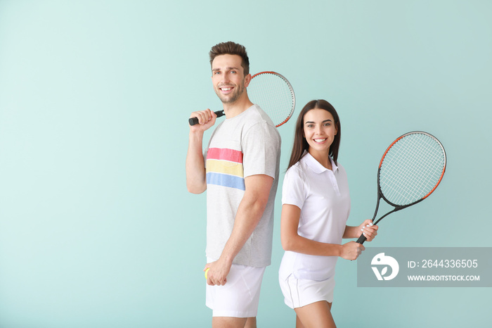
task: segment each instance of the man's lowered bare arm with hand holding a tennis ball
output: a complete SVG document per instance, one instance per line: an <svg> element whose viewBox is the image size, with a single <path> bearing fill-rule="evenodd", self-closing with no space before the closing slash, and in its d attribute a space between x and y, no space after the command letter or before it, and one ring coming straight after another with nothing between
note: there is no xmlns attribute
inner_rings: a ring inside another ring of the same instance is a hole
<svg viewBox="0 0 492 328"><path fill-rule="evenodd" d="M250 238L257 227L268 203L273 177L268 175L251 175L245 178L245 194L235 215L234 227L221 257L216 262L208 263L204 270L210 268L207 283L224 285L235 256Z"/></svg>

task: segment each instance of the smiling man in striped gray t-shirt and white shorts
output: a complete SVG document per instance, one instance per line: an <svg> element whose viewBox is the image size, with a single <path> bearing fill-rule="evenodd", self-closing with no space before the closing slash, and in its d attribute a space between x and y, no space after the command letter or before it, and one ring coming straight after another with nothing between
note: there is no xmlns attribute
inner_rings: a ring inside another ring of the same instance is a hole
<svg viewBox="0 0 492 328"><path fill-rule="evenodd" d="M221 122L202 153L203 134L216 115L191 113L186 156L188 191L207 190L207 306L212 327L256 327L261 279L271 264L273 202L280 134L247 95L250 63L244 46L216 44L209 52L214 90L224 106Z"/></svg>

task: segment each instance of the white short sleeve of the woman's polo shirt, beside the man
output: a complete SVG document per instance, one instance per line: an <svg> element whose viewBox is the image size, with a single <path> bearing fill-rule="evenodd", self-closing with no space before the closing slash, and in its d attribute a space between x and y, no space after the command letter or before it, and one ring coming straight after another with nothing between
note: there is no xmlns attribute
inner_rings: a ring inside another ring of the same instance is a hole
<svg viewBox="0 0 492 328"><path fill-rule="evenodd" d="M302 171L296 166L292 166L285 173L282 187L282 205L295 205L302 209L307 198L307 187Z"/></svg>

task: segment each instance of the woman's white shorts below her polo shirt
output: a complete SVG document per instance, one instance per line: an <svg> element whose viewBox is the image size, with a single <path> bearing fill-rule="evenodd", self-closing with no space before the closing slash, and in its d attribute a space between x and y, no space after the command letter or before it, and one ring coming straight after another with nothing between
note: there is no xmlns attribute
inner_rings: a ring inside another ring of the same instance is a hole
<svg viewBox="0 0 492 328"><path fill-rule="evenodd" d="M287 279L278 279L284 302L289 308L302 308L305 305L319 301L333 302L335 279L330 278L322 282L309 279L297 279L290 275Z"/></svg>

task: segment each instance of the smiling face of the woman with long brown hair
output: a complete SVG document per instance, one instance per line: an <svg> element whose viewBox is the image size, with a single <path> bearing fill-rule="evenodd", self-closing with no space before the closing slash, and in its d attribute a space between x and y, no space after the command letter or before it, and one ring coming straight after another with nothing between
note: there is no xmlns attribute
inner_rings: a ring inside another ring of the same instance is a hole
<svg viewBox="0 0 492 328"><path fill-rule="evenodd" d="M304 138L309 152L330 152L330 146L337 134L335 119L329 111L313 108L304 115Z"/></svg>

